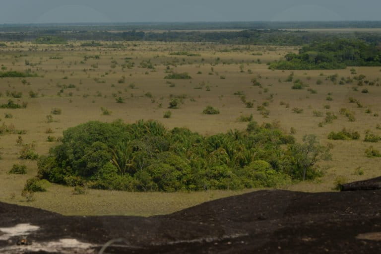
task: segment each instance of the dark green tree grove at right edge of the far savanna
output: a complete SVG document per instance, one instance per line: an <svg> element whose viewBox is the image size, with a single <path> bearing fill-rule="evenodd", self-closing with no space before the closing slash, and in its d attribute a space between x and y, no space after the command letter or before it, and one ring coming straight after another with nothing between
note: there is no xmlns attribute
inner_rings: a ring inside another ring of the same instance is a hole
<svg viewBox="0 0 381 254"><path fill-rule="evenodd" d="M273 69L340 69L346 66L380 66L381 47L360 40L315 42L289 53L285 60L270 64Z"/></svg>

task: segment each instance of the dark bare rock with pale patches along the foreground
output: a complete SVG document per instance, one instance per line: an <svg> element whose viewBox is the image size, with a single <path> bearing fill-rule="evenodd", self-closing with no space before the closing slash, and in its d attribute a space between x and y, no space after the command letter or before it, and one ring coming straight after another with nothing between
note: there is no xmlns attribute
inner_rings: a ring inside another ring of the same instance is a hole
<svg viewBox="0 0 381 254"><path fill-rule="evenodd" d="M0 203L0 253L380 254L381 177L342 189L255 191L149 218Z"/></svg>

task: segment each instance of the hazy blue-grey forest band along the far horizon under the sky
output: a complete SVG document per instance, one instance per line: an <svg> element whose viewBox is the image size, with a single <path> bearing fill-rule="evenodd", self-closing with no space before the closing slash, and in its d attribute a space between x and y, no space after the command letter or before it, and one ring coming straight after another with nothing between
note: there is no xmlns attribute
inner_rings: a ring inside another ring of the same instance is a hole
<svg viewBox="0 0 381 254"><path fill-rule="evenodd" d="M381 21L228 21L0 24L1 32L381 28Z"/></svg>

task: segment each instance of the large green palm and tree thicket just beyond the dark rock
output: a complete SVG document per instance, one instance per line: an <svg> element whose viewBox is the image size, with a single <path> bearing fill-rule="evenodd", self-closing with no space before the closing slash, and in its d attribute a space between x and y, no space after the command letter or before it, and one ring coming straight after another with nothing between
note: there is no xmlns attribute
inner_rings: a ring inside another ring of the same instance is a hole
<svg viewBox="0 0 381 254"><path fill-rule="evenodd" d="M329 149L316 136L296 143L276 124L211 136L155 121L88 122L64 131L39 158L39 178L68 186L125 191L276 187L320 174Z"/></svg>

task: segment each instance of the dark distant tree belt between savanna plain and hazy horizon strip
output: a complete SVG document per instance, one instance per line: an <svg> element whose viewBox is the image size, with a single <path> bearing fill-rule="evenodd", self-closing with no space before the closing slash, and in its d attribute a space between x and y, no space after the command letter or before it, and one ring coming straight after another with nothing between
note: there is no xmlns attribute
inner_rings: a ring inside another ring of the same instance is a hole
<svg viewBox="0 0 381 254"><path fill-rule="evenodd" d="M48 40L47 40L48 38ZM166 42L214 42L224 44L255 44L255 45L287 45L301 46L311 43L321 43L338 39L364 40L369 43L381 41L381 33L319 33L287 30L259 30L243 31L60 31L38 30L30 32L0 33L0 41L34 41L41 43L53 41L61 44L68 40L94 41L166 41Z"/></svg>

